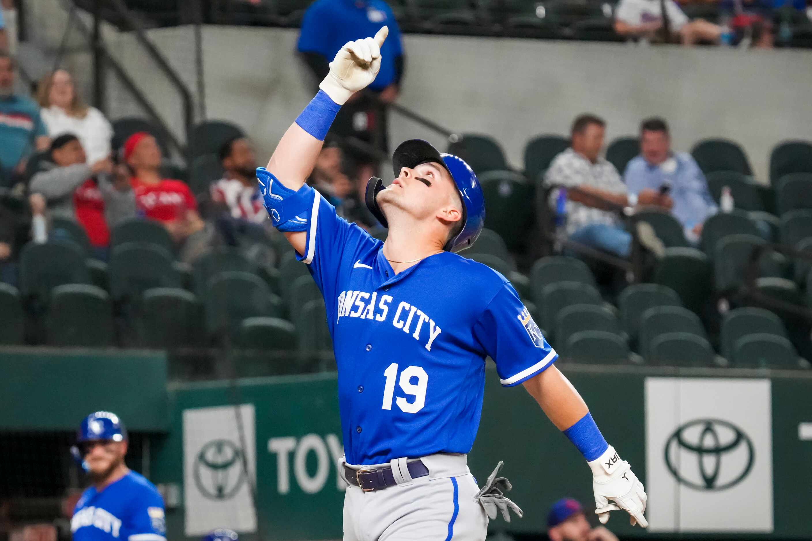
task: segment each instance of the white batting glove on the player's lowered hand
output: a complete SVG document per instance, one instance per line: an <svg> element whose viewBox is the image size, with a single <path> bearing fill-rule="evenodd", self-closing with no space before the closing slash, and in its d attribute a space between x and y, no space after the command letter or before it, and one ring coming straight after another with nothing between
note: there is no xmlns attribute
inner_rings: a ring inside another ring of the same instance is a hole
<svg viewBox="0 0 812 541"><path fill-rule="evenodd" d="M623 509L631 517L632 526L639 523L647 528L649 523L643 513L646 511L646 491L643 483L628 466L620 460L615 448L611 445L597 459L587 462L592 469L592 489L595 492L595 513L601 524L609 521L609 512Z"/></svg>

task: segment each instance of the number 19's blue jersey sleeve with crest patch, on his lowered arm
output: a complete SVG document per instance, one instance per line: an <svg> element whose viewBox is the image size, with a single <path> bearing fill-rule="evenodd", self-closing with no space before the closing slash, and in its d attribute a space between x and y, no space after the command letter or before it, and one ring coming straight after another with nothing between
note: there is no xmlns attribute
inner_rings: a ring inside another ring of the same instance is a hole
<svg viewBox="0 0 812 541"><path fill-rule="evenodd" d="M509 283L490 301L473 332L494 359L499 381L505 387L529 380L558 359Z"/></svg>

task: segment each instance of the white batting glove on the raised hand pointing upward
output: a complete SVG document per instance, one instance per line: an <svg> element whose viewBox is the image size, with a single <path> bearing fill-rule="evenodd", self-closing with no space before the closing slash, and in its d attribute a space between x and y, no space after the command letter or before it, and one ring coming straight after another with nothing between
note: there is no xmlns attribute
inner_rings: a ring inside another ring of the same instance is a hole
<svg viewBox="0 0 812 541"><path fill-rule="evenodd" d="M330 62L330 73L318 85L332 101L344 105L352 94L375 80L381 69L381 46L389 27L378 30L374 37L348 41Z"/></svg>

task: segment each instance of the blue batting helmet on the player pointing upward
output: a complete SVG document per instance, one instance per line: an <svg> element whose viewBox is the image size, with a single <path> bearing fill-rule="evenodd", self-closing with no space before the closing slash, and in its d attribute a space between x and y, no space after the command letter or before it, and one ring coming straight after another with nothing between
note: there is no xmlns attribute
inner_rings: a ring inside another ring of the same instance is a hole
<svg viewBox="0 0 812 541"><path fill-rule="evenodd" d="M404 167L413 168L422 163L438 163L443 165L454 179L457 190L462 200L462 229L460 233L451 238L445 247L446 251L460 251L471 246L479 237L482 225L485 223L485 196L482 194L482 187L479 185L477 175L473 173L470 166L465 161L453 154L441 154L428 141L412 139L404 141L395 148L392 155L392 169L395 170L395 177L400 176L400 170ZM383 216L378 202L375 200L378 192L383 189L383 182L380 178L370 178L366 187L366 206L369 212L381 222L384 227L388 226L387 218Z"/></svg>

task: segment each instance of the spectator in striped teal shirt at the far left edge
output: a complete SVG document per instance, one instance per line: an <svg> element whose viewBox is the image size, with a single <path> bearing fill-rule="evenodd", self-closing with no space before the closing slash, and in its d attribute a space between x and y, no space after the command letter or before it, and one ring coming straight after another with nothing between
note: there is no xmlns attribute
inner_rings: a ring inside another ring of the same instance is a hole
<svg viewBox="0 0 812 541"><path fill-rule="evenodd" d="M37 104L14 93L14 59L0 51L0 181L11 186L32 152L50 144Z"/></svg>

